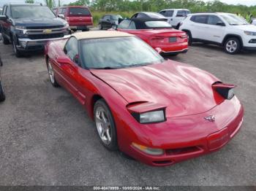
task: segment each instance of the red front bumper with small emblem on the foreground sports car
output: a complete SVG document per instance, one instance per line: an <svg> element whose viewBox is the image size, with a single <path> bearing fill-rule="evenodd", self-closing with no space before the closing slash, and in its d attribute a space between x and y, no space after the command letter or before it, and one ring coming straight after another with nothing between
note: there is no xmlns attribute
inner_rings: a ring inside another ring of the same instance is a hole
<svg viewBox="0 0 256 191"><path fill-rule="evenodd" d="M204 119L209 115L215 122ZM240 130L244 108L235 97L208 112L185 117L169 117L166 122L143 125L132 139L118 142L121 151L148 165L173 165L224 147ZM129 124L136 129L138 123ZM164 149L164 155L153 156L132 146L132 142L150 148Z"/></svg>

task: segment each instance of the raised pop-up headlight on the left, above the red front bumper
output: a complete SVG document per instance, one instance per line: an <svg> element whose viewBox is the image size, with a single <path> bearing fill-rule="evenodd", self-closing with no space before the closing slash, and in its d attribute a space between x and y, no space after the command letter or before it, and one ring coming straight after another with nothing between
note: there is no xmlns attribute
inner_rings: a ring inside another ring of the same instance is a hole
<svg viewBox="0 0 256 191"><path fill-rule="evenodd" d="M141 114L132 114L132 115L140 123L164 122L165 121L165 111L164 110L145 112L145 113L141 113Z"/></svg>

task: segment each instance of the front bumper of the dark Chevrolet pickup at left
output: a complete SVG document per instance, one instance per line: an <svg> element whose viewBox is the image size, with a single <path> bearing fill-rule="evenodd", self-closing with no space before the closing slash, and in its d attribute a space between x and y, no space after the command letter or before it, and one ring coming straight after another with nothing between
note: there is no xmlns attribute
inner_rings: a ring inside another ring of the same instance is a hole
<svg viewBox="0 0 256 191"><path fill-rule="evenodd" d="M29 39L20 38L18 39L18 50L29 51L29 50L42 50L48 41L67 39L70 35L65 35L64 37L54 38L54 39Z"/></svg>

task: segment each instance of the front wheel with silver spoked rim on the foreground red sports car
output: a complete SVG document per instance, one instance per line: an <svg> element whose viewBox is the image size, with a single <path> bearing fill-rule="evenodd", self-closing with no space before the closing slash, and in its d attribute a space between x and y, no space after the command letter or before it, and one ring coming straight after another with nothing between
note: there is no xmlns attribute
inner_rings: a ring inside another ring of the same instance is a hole
<svg viewBox="0 0 256 191"><path fill-rule="evenodd" d="M103 99L94 105L94 122L101 143L109 150L117 150L116 125L113 115Z"/></svg>

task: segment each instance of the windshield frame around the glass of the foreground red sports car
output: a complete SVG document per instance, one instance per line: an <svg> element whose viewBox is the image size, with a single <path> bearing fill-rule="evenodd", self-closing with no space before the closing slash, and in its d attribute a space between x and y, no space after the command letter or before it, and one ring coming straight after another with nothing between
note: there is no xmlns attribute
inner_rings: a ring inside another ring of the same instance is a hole
<svg viewBox="0 0 256 191"><path fill-rule="evenodd" d="M149 65L152 65L152 64L156 64L156 63L163 63L165 61L165 58L162 58L161 55L159 55L157 52L156 52L156 55L159 56L159 62L151 62L151 63L140 63L140 64L135 64L135 65L131 65L131 66L127 66L127 67L115 67L115 68L106 68L106 67L103 67L103 68L92 68L92 67L89 67L88 65L86 65L85 61L84 61L84 58L83 56L85 55L85 53L83 53L83 43L84 41L86 40L95 40L95 39L124 39L124 38L135 38L135 39L138 39L140 42L143 42L140 38L138 38L137 36L127 36L127 37L106 37L106 38L94 38L94 39L80 39L78 40L78 52L79 52L79 60L80 60L80 65L83 69L86 69L86 70L94 70L94 69L98 69L98 70L103 70L103 69L132 69L132 68L135 68L135 67L140 67L140 66L149 66ZM146 44L146 42L143 42ZM152 50L154 50L151 46L149 46L148 44L146 44L146 46L150 47Z"/></svg>

